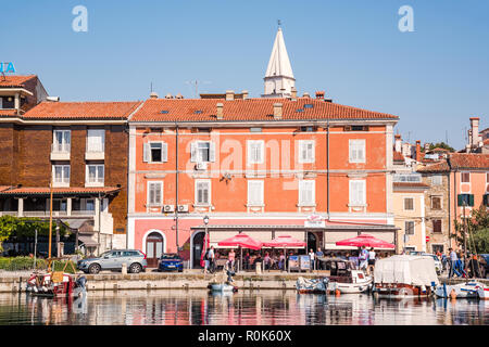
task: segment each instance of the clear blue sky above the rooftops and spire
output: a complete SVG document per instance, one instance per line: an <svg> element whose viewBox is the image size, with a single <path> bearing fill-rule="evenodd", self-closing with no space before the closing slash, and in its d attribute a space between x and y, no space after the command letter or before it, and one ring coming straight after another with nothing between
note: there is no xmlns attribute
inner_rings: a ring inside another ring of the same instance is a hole
<svg viewBox="0 0 489 347"><path fill-rule="evenodd" d="M88 33L75 33L75 5ZM401 5L414 33L401 33ZM0 61L37 74L62 101L263 92L283 22L299 94L400 116L404 140L465 143L468 118L489 127L489 1L2 1Z"/></svg>

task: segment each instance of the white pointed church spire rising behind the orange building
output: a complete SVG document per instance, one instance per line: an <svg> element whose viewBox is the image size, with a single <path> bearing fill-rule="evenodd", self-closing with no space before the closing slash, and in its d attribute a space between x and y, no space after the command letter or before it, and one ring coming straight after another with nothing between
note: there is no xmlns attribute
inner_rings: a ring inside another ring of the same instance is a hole
<svg viewBox="0 0 489 347"><path fill-rule="evenodd" d="M280 22L278 24L280 25ZM290 97L291 90L296 85L280 26L275 36L274 48L272 49L264 80L265 93L262 95L263 98Z"/></svg>

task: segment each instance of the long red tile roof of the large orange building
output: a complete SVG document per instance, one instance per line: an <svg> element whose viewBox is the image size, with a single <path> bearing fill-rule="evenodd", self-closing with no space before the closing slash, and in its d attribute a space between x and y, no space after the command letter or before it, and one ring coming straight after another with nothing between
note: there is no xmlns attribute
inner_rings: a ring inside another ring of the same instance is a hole
<svg viewBox="0 0 489 347"><path fill-rule="evenodd" d="M283 104L284 120L398 119L399 117L344 106L311 98L290 99L149 99L129 121L216 121L217 103L223 104L222 121L274 120L274 104ZM312 106L305 106L310 104ZM163 112L163 113L162 113Z"/></svg>

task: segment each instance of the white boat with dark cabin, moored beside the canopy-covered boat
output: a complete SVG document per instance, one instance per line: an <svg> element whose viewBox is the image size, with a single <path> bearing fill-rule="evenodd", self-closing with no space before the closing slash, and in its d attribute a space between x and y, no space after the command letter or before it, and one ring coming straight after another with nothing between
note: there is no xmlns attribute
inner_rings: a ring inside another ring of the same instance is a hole
<svg viewBox="0 0 489 347"><path fill-rule="evenodd" d="M351 260L341 258L324 259L323 269L329 270L328 292L341 294L365 293L372 288L373 277L367 275L365 271L358 270Z"/></svg>

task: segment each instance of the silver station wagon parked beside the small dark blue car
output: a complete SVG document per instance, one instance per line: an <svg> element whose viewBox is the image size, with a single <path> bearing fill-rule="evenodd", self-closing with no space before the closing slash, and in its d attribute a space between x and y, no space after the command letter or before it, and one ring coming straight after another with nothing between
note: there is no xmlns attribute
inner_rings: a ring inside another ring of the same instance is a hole
<svg viewBox="0 0 489 347"><path fill-rule="evenodd" d="M101 270L122 270L127 266L127 271L138 273L148 267L146 254L138 249L112 249L103 253L98 258L82 259L77 268L85 273L99 273Z"/></svg>

